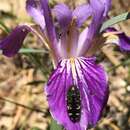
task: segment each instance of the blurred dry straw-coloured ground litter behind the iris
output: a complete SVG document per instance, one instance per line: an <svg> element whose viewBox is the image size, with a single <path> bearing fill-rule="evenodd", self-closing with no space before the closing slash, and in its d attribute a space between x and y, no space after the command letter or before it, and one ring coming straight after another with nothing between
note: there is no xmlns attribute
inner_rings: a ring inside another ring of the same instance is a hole
<svg viewBox="0 0 130 130"><path fill-rule="evenodd" d="M70 6L73 2L84 3L84 0L50 0L50 4L62 1ZM25 2L0 0L0 39L17 24L33 22L26 13ZM130 0L112 0L110 16L127 11ZM130 21L116 27L130 36ZM44 48L38 42L30 34L24 46ZM130 53L107 46L97 56L109 75L110 97L101 121L92 130L130 130ZM52 69L46 49L43 54L18 54L13 58L0 55L0 130L50 129L51 117L43 88Z"/></svg>

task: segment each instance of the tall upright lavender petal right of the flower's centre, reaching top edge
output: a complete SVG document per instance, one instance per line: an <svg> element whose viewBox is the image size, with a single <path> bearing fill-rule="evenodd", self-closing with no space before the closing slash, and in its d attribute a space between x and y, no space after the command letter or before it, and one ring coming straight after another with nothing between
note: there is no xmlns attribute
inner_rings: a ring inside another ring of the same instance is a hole
<svg viewBox="0 0 130 130"><path fill-rule="evenodd" d="M98 36L100 27L106 19L110 9L111 0L90 0L89 4L92 8L92 22L89 26L80 55L85 55L88 49L91 48L93 39Z"/></svg>

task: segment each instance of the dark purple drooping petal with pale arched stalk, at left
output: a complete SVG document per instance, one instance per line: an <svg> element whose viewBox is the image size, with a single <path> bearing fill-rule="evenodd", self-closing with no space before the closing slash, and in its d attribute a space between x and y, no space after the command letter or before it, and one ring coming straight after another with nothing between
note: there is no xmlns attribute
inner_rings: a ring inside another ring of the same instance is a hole
<svg viewBox="0 0 130 130"><path fill-rule="evenodd" d="M35 26L27 24L19 25L6 38L0 40L0 50L2 50L2 53L8 57L17 54L29 32L34 33L43 41L42 36L37 32Z"/></svg>

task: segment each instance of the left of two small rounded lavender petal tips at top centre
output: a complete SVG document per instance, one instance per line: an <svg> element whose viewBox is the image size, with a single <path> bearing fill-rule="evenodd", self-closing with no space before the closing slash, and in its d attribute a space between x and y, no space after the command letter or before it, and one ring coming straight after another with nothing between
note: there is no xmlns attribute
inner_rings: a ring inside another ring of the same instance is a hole
<svg viewBox="0 0 130 130"><path fill-rule="evenodd" d="M72 20L72 11L65 4L58 4L53 9L60 26L65 29Z"/></svg>

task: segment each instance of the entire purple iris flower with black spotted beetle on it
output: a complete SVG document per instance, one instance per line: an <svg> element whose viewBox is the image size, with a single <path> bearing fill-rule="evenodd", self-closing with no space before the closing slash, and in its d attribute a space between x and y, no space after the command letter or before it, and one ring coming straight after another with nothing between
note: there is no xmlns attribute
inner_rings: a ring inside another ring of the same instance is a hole
<svg viewBox="0 0 130 130"><path fill-rule="evenodd" d="M49 49L55 70L45 91L52 117L66 130L95 126L107 103L108 78L104 68L96 64L95 53L110 43L122 51L130 50L125 33L114 28L100 33L110 6L111 0L89 0L74 10L63 3L51 9L48 0L27 0L27 12L37 26L18 25L0 41L0 50L8 57L18 53L30 32ZM83 29L90 17L91 23Z"/></svg>

